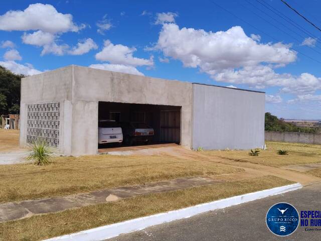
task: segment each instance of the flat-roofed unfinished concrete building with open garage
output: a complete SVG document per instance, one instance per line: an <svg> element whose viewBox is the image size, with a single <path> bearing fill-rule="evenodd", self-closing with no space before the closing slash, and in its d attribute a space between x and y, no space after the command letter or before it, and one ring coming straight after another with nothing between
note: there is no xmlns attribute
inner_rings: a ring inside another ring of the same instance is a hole
<svg viewBox="0 0 321 241"><path fill-rule="evenodd" d="M264 92L80 66L25 77L20 145L37 137L64 155L95 154L98 119L145 122L154 141L197 149L264 146Z"/></svg>

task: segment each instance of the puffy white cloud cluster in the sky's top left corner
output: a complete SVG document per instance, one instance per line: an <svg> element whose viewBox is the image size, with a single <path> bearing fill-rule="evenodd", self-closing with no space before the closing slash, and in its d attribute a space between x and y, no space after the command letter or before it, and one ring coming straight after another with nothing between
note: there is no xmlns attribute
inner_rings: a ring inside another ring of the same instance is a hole
<svg viewBox="0 0 321 241"><path fill-rule="evenodd" d="M22 41L25 44L43 47L41 55L64 55L68 52L69 46L57 44L61 34L79 32L85 27L85 24L76 25L71 14L59 13L49 4L31 4L23 11L8 11L0 16L0 30L34 31L25 32Z"/></svg>

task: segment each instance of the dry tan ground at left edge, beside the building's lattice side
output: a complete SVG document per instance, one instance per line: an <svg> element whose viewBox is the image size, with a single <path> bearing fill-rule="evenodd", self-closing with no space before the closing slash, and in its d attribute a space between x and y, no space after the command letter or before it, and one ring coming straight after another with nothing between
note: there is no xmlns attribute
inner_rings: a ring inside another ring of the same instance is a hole
<svg viewBox="0 0 321 241"><path fill-rule="evenodd" d="M19 150L19 130L0 129L0 152Z"/></svg>

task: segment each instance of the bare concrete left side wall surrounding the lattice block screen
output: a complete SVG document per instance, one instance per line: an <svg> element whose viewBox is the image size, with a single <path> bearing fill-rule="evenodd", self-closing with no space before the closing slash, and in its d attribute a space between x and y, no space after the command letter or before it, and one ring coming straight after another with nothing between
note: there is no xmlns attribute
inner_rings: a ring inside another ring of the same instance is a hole
<svg viewBox="0 0 321 241"><path fill-rule="evenodd" d="M27 145L27 105L60 102L61 152L71 154L72 67L22 78L20 104L20 146Z"/></svg>

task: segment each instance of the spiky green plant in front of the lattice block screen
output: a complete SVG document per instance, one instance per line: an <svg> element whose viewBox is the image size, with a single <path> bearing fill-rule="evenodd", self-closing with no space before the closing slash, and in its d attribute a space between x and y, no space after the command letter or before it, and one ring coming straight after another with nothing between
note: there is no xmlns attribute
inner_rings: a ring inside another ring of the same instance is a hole
<svg viewBox="0 0 321 241"><path fill-rule="evenodd" d="M32 160L35 165L43 166L50 164L53 158L53 152L45 141L34 141L29 144L30 153L27 157Z"/></svg>

